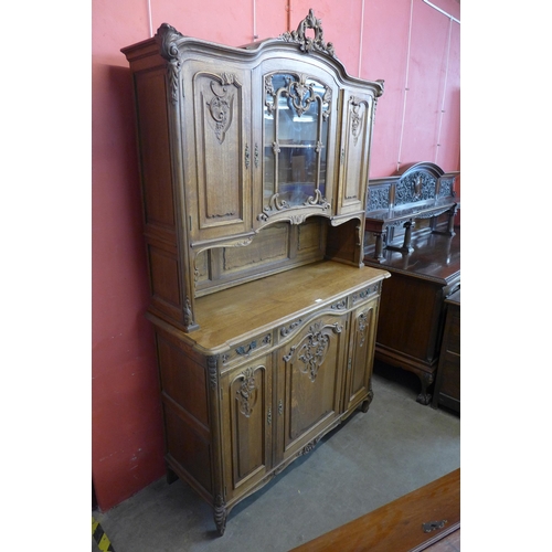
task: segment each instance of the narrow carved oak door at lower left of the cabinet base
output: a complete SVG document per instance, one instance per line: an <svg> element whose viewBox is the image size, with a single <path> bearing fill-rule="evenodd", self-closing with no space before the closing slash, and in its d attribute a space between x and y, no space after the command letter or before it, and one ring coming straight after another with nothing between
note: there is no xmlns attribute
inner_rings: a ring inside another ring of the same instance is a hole
<svg viewBox="0 0 552 552"><path fill-rule="evenodd" d="M222 379L226 501L251 489L272 466L272 385L269 355Z"/></svg>

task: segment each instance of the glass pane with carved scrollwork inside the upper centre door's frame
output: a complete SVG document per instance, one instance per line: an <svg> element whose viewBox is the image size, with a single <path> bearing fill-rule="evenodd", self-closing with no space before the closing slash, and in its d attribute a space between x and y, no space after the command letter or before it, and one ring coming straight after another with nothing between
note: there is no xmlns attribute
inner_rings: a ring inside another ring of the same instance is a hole
<svg viewBox="0 0 552 552"><path fill-rule="evenodd" d="M264 216L326 205L331 88L304 74L265 77Z"/></svg>

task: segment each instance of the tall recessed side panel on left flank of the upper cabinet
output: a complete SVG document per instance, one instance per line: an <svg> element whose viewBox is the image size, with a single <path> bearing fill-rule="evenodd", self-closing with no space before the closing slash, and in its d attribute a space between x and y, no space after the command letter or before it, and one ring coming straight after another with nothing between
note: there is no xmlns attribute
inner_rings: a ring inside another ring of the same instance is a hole
<svg viewBox="0 0 552 552"><path fill-rule="evenodd" d="M164 68L135 73L146 225L174 226Z"/></svg>

